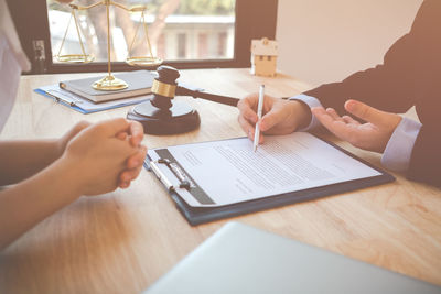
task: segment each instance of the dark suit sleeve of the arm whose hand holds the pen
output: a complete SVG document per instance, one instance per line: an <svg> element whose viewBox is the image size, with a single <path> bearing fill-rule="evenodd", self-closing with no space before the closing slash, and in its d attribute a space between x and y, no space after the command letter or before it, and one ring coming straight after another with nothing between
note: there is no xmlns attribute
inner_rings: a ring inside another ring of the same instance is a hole
<svg viewBox="0 0 441 294"><path fill-rule="evenodd" d="M422 73L433 67L438 52L431 51L439 35L432 28L439 26L440 1L424 1L417 13L410 32L400 37L386 53L384 63L358 72L341 83L322 85L309 90L325 108L332 107L344 113L344 102L359 100L389 112L406 112L421 95L418 88L427 79ZM432 61L423 64L422 59Z"/></svg>

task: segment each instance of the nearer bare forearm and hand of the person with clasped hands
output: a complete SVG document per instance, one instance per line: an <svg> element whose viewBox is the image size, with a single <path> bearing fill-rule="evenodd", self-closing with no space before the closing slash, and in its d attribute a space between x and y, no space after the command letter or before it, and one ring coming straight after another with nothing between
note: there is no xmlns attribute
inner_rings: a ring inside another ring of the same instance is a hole
<svg viewBox="0 0 441 294"><path fill-rule="evenodd" d="M143 157L147 149L133 144L138 141L136 135L117 138L130 132L132 126L116 119L87 127L68 141L55 162L0 190L0 250L80 195L111 192L120 185L125 173L129 174L127 181L137 177L142 161L131 170L127 165L133 164L133 160L138 163L139 154Z"/></svg>

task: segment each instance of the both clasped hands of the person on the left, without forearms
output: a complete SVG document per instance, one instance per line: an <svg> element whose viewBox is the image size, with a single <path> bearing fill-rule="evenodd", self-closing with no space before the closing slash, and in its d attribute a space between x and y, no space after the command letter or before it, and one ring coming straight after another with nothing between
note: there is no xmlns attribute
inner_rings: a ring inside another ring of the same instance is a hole
<svg viewBox="0 0 441 294"><path fill-rule="evenodd" d="M82 195L127 188L146 157L139 122L114 119L90 124L82 121L58 141L61 159L78 172Z"/></svg>

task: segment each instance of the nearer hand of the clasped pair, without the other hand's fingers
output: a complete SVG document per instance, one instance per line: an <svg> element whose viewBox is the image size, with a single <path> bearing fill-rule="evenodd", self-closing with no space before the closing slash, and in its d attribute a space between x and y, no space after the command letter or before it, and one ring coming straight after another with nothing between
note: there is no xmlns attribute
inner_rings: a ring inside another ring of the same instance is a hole
<svg viewBox="0 0 441 294"><path fill-rule="evenodd" d="M132 145L139 138L117 138L119 133L129 130L131 122L114 119L92 124L71 139L61 160L76 171L77 176L73 181L77 182L79 194L97 195L118 187L119 177L127 168L129 159L146 150L144 146ZM138 174L133 172L131 175L135 178Z"/></svg>

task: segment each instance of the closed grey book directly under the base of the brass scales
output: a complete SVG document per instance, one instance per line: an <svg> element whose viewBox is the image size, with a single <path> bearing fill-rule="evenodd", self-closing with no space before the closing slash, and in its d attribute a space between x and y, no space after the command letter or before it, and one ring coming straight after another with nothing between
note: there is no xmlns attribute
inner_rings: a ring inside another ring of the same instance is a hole
<svg viewBox="0 0 441 294"><path fill-rule="evenodd" d="M92 87L92 85L100 77L90 77L61 81L60 88L68 90L94 102L103 102L150 94L151 86L153 85L154 74L148 70L136 70L115 74L115 77L125 80L129 87L115 91L96 90Z"/></svg>

